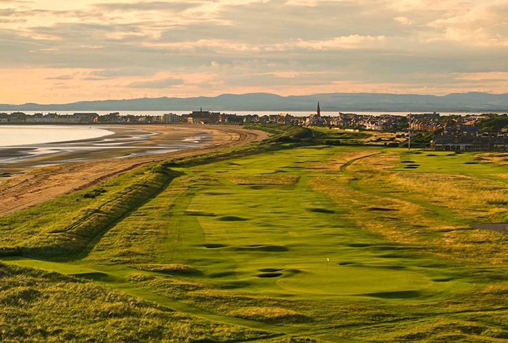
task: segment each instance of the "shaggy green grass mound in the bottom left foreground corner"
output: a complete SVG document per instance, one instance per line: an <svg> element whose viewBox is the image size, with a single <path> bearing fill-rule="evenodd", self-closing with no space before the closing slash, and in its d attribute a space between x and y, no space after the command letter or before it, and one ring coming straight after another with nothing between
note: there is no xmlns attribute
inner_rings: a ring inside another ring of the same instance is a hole
<svg viewBox="0 0 508 343"><path fill-rule="evenodd" d="M231 342L270 336L13 265L0 264L0 304L1 342Z"/></svg>

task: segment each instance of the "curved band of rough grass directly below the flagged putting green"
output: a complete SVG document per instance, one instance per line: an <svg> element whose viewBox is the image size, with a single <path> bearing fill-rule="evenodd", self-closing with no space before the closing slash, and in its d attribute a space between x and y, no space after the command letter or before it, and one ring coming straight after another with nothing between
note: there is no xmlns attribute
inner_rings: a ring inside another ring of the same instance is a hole
<svg viewBox="0 0 508 343"><path fill-rule="evenodd" d="M479 281L484 276L474 277ZM130 280L216 314L332 332L360 342L440 342L452 337L454 341L476 342L508 337L508 310L503 305L508 285L489 285L494 279L488 277L467 295L450 294L446 300L424 303L288 300L220 289L194 279L132 275Z"/></svg>

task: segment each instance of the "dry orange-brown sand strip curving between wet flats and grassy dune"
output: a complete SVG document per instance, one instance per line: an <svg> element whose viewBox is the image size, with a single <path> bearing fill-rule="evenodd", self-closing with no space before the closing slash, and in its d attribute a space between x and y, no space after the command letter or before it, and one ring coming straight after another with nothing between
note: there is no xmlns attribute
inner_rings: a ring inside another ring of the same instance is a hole
<svg viewBox="0 0 508 343"><path fill-rule="evenodd" d="M79 189L97 185L118 174L136 169L154 161L202 154L225 147L245 145L262 141L269 134L255 130L244 130L234 126L174 126L188 130L207 130L213 133L213 141L205 147L180 150L166 154L149 154L126 158L100 159L65 165L54 165L34 169L6 179L0 184L0 215L19 211L40 202L45 202ZM156 126L150 130L157 131Z"/></svg>

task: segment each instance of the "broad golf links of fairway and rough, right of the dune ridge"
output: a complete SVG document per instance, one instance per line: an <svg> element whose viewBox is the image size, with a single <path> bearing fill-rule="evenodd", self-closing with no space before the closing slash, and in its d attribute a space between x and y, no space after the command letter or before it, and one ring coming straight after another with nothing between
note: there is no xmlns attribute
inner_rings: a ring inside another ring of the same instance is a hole
<svg viewBox="0 0 508 343"><path fill-rule="evenodd" d="M170 276L124 269L122 277L211 314L334 339L508 337L508 237L469 227L472 219L503 217L505 183L492 175L504 167L466 165L467 154L378 148L259 151L264 154L245 149L187 158L175 167L180 177L115 222L69 268L169 268ZM401 161L419 167L404 169ZM266 176L297 180L291 187L240 183ZM104 189L90 201L100 202L110 193ZM474 207L480 214L470 214ZM174 272L180 268L199 272ZM264 274L273 277L259 277Z"/></svg>

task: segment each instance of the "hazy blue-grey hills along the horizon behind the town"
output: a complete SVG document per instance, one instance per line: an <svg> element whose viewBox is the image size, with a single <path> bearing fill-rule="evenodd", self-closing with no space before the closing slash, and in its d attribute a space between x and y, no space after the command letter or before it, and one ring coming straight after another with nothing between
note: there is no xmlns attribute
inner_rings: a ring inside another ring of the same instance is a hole
<svg viewBox="0 0 508 343"><path fill-rule="evenodd" d="M269 93L223 94L217 97L159 97L73 102L71 104L0 104L0 110L273 110L313 111L316 103L323 111L413 111L413 112L507 112L508 93L452 93L444 96L382 93L323 93L281 97Z"/></svg>

